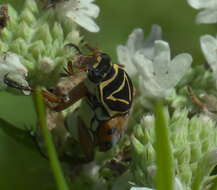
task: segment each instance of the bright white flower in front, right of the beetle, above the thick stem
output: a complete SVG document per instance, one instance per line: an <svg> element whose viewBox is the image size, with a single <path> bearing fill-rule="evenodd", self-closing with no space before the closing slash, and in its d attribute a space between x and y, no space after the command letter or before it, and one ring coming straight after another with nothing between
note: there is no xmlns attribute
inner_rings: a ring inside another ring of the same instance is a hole
<svg viewBox="0 0 217 190"><path fill-rule="evenodd" d="M171 92L181 78L190 70L192 57L180 54L171 60L170 48L165 41L155 41L152 59L138 51L135 66L139 74L140 90L145 97L163 98Z"/></svg>

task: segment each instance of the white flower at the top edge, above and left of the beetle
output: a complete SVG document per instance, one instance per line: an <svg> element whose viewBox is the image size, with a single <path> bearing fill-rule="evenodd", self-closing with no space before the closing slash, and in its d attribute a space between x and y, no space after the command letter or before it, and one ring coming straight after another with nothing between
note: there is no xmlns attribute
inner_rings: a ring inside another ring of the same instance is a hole
<svg viewBox="0 0 217 190"><path fill-rule="evenodd" d="M98 32L99 27L93 19L99 15L99 7L92 3L93 0L68 0L56 7L57 11L73 20L90 32Z"/></svg>

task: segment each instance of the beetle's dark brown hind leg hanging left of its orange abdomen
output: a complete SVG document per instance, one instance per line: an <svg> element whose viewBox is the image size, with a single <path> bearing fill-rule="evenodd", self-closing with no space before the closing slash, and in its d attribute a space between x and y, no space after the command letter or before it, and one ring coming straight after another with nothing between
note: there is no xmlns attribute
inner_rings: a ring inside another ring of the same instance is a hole
<svg viewBox="0 0 217 190"><path fill-rule="evenodd" d="M78 137L81 148L85 154L86 161L90 162L94 158L94 140L93 136L88 131L83 120L78 117Z"/></svg>

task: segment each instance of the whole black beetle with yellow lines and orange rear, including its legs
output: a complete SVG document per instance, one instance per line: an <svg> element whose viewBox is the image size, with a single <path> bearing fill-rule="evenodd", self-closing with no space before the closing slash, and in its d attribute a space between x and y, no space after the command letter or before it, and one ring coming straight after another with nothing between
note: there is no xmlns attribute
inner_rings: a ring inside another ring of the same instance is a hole
<svg viewBox="0 0 217 190"><path fill-rule="evenodd" d="M58 112L82 99L79 108L66 117L65 123L71 134L76 131L85 160L91 161L95 147L101 152L108 151L126 131L134 87L123 66L113 64L108 54L86 45L92 54L85 55L76 45L67 46L75 48L78 59L74 65L68 63L65 69L66 80L76 75L73 68L82 70L85 77L69 90L67 98L63 98L60 93L63 90L42 93L48 107ZM8 86L27 90L7 76L4 81ZM34 89L31 91L34 92Z"/></svg>

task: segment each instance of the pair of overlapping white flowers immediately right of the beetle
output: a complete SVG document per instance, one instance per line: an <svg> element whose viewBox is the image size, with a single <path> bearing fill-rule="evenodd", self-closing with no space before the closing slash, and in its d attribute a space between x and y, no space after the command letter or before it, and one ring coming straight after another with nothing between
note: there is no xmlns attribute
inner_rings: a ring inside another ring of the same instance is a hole
<svg viewBox="0 0 217 190"><path fill-rule="evenodd" d="M141 29L130 34L126 46L118 46L121 64L132 76L139 77L139 89L148 98L163 98L171 92L190 70L192 57L183 53L171 60L169 44L158 40L161 29L154 25L150 36L144 40Z"/></svg>

